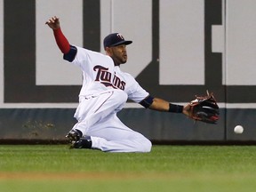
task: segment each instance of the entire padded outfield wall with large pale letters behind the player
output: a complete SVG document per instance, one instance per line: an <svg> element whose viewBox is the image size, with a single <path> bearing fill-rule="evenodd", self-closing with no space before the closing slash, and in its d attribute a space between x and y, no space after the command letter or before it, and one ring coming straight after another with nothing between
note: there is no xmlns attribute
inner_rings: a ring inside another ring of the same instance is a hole
<svg viewBox="0 0 256 192"><path fill-rule="evenodd" d="M71 44L103 52L108 33L131 39L122 69L153 96L185 104L209 90L220 103L209 125L129 101L118 116L132 129L161 141L256 140L254 0L0 0L0 139L63 140L76 123L82 75L44 24L54 15Z"/></svg>

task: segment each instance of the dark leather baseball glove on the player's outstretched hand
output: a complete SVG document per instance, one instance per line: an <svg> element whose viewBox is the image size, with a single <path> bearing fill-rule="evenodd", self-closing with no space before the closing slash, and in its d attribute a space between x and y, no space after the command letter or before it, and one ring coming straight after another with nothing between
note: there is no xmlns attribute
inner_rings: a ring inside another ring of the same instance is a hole
<svg viewBox="0 0 256 192"><path fill-rule="evenodd" d="M219 120L219 106L213 97L213 93L206 92L206 96L196 96L196 100L192 100L189 103L189 117L207 124L216 124Z"/></svg>

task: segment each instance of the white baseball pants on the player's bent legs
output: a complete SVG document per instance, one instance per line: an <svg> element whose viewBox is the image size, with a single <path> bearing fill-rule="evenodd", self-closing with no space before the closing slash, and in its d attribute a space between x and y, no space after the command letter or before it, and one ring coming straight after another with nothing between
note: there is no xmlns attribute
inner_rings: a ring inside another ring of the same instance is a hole
<svg viewBox="0 0 256 192"><path fill-rule="evenodd" d="M111 90L100 95L80 97L73 129L91 137L92 148L105 152L149 152L152 144L140 132L135 132L116 116L124 108L127 94Z"/></svg>

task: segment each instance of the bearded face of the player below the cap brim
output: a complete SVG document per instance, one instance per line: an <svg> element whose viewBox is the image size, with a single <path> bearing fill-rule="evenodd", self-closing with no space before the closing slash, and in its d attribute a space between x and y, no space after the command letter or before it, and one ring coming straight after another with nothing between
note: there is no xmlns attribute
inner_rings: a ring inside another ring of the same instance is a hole
<svg viewBox="0 0 256 192"><path fill-rule="evenodd" d="M109 48L109 56L114 60L115 65L124 64L127 61L126 45L120 44Z"/></svg>

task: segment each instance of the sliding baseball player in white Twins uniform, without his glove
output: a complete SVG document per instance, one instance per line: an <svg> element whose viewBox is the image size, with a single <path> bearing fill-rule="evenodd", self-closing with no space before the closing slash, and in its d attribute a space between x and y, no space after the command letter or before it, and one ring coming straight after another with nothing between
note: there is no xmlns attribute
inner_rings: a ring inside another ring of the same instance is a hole
<svg viewBox="0 0 256 192"><path fill-rule="evenodd" d="M106 54L71 45L60 29L60 20L52 17L46 23L53 34L64 60L81 68L83 86L75 117L77 123L68 132L72 148L96 148L105 152L149 152L152 144L116 116L127 99L145 108L190 114L189 105L174 105L152 97L128 73L120 69L127 61L126 45L132 44L119 33L105 37Z"/></svg>

